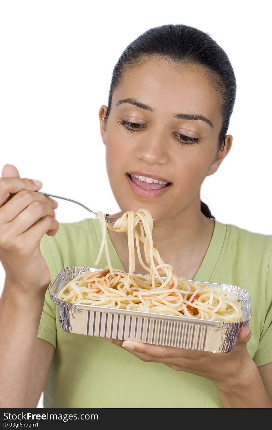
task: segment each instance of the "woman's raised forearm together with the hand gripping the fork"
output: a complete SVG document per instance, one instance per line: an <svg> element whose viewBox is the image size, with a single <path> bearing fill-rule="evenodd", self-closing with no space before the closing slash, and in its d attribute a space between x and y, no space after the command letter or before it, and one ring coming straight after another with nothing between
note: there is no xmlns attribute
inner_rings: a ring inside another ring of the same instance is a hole
<svg viewBox="0 0 272 430"><path fill-rule="evenodd" d="M37 332L50 282L50 271L41 255L40 242L45 234L54 236L58 231L54 210L58 205L50 197L37 193L41 183L20 178L15 166L4 166L2 176L0 261L6 279L0 298L0 407L24 408ZM34 375L37 392L43 389L52 359L52 347L46 348L45 367L40 369L42 377Z"/></svg>

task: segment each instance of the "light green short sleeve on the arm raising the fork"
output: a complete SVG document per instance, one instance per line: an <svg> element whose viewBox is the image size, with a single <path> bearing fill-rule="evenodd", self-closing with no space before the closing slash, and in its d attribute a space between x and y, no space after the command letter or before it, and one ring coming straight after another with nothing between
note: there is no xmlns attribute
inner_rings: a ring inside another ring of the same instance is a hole
<svg viewBox="0 0 272 430"><path fill-rule="evenodd" d="M55 256L52 249L52 245L49 243L49 240L46 234L42 237L40 241L40 250L50 271L50 285L51 285L58 273L58 270L56 267ZM56 306L55 303L51 300L49 290L47 289L37 338L43 339L51 343L52 345L54 345L54 347L56 347L56 343L57 343L55 306Z"/></svg>

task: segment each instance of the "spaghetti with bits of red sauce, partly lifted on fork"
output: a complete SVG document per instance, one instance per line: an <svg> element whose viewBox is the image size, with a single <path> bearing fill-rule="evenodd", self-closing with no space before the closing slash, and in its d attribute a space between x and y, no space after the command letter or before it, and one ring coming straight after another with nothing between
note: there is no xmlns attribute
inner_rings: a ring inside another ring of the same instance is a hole
<svg viewBox="0 0 272 430"><path fill-rule="evenodd" d="M58 293L59 299L92 306L223 322L243 320L241 301L234 294L224 292L217 287L207 287L198 281L178 278L172 272L173 267L164 263L157 247L153 245L153 220L147 209L125 212L114 224L106 224L103 212L98 212L97 215L101 225L102 240L95 265L99 263L104 249L108 264L103 270L80 274L73 278ZM140 227L140 234L137 231L137 225ZM107 228L128 234L128 273L114 269L111 265ZM134 239L138 259L149 275L133 273L135 270ZM144 244L145 260L149 267L141 256L140 242Z"/></svg>

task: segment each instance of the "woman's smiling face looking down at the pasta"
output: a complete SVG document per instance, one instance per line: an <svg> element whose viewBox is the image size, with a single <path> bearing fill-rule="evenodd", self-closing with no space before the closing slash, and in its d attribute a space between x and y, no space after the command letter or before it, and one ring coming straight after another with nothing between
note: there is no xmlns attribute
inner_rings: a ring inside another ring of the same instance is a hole
<svg viewBox="0 0 272 430"><path fill-rule="evenodd" d="M126 98L150 108L120 102ZM220 99L201 68L177 71L154 59L136 66L113 92L105 126L106 110L105 105L99 110L101 135L110 185L122 212L146 208L160 221L199 202L202 182L217 170L232 143L228 135L219 151Z"/></svg>

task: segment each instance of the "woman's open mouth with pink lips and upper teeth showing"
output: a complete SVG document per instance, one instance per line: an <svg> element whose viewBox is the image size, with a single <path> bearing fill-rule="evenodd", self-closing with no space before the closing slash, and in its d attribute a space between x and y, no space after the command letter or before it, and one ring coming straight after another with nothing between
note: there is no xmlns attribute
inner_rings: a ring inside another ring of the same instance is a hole
<svg viewBox="0 0 272 430"><path fill-rule="evenodd" d="M141 197L158 197L165 193L171 182L160 181L149 176L126 174L129 185L135 194Z"/></svg>

